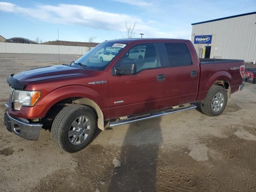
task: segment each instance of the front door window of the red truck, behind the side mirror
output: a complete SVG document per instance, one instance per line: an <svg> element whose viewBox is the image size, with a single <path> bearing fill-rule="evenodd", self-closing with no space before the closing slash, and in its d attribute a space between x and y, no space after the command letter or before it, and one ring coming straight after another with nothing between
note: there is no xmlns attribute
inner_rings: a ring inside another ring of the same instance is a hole
<svg viewBox="0 0 256 192"><path fill-rule="evenodd" d="M117 65L124 66L131 62L136 64L136 72L160 67L155 44L142 44L131 48Z"/></svg>

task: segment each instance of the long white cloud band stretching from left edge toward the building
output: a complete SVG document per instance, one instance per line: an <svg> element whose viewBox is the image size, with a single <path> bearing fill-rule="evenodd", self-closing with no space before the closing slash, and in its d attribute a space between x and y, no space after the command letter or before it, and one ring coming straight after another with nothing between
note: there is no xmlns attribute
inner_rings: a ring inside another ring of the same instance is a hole
<svg viewBox="0 0 256 192"><path fill-rule="evenodd" d="M122 0L126 1L126 0ZM132 1L131 1L132 2ZM138 1L140 2L140 1ZM126 32L126 25L134 24L134 32L145 33L145 37L152 38L182 38L186 32L162 32L156 22L144 22L142 19L128 14L104 12L93 7L75 4L58 4L57 6L39 4L35 8L23 8L16 4L0 2L0 11L23 14L43 22L54 24L71 24L102 30Z"/></svg>

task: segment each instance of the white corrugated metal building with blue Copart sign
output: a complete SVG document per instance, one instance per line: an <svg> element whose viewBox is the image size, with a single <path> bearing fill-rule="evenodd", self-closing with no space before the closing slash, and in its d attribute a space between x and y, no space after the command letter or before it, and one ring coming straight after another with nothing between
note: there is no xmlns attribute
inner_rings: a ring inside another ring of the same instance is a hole
<svg viewBox="0 0 256 192"><path fill-rule="evenodd" d="M256 61L256 12L192 23L200 58Z"/></svg>

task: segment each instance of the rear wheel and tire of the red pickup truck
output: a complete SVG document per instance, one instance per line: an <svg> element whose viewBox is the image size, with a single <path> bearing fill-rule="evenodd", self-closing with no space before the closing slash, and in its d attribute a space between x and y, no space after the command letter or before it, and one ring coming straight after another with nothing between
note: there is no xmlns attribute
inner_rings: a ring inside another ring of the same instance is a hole
<svg viewBox="0 0 256 192"><path fill-rule="evenodd" d="M201 102L201 110L208 116L220 115L227 104L228 95L222 86L214 84L210 87L205 100Z"/></svg>

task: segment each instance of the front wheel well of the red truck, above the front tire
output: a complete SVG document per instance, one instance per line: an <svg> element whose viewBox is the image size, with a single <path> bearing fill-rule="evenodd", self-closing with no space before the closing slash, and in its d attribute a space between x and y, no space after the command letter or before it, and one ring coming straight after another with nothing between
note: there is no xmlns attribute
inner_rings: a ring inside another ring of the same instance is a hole
<svg viewBox="0 0 256 192"><path fill-rule="evenodd" d="M48 110L45 119L52 122L56 115L67 105L72 105L72 104L82 104L85 106L90 107L94 113L96 114L98 118L98 128L101 130L104 130L104 116L102 113L102 110L100 110L100 107L93 101L88 98L67 98L64 100L59 101L58 103L54 104L50 110Z"/></svg>

